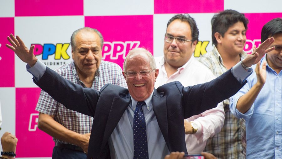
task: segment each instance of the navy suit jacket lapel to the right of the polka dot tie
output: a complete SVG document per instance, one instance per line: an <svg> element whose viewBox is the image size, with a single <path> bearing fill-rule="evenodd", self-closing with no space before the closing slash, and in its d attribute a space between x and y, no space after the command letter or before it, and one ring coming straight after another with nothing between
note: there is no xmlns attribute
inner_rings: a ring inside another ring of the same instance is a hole
<svg viewBox="0 0 282 159"><path fill-rule="evenodd" d="M158 93L156 89L154 89L153 95L153 110L166 145L169 147L166 96L163 93Z"/></svg>

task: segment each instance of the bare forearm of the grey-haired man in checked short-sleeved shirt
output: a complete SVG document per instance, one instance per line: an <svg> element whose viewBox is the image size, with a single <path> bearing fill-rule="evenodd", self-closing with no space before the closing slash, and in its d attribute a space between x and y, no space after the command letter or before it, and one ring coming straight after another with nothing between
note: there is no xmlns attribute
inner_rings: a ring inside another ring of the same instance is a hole
<svg viewBox="0 0 282 159"><path fill-rule="evenodd" d="M39 114L38 128L40 130L43 130L58 140L62 140L77 146L82 146L84 142L88 142L87 140L83 139L81 134L68 130L63 125L55 121L51 116L46 116L47 114Z"/></svg>

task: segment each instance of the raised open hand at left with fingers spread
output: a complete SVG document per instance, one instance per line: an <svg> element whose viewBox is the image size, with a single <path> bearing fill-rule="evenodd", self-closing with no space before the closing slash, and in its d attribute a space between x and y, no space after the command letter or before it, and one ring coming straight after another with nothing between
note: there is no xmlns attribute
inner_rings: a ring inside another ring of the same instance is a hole
<svg viewBox="0 0 282 159"><path fill-rule="evenodd" d="M21 38L13 34L10 34L10 37L8 36L7 39L11 45L6 44L6 46L13 50L22 61L28 63L29 66L33 66L36 63L37 58L33 54L34 45L28 49Z"/></svg>

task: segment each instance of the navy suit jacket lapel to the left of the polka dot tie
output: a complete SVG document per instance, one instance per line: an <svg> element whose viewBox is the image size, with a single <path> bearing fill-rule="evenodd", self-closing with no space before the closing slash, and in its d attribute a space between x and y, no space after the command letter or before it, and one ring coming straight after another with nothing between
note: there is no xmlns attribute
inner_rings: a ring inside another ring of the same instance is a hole
<svg viewBox="0 0 282 159"><path fill-rule="evenodd" d="M106 145L110 135L118 124L118 121L122 117L125 109L130 103L130 95L125 93L120 93L120 97L114 97L109 117L107 119L107 124L105 127L105 134L102 141L102 148Z"/></svg>

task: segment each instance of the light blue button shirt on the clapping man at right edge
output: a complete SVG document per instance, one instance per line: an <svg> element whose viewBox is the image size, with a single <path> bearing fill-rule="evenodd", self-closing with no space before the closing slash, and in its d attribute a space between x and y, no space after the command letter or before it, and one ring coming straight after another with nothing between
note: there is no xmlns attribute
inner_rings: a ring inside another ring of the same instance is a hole
<svg viewBox="0 0 282 159"><path fill-rule="evenodd" d="M265 61L261 60L261 65ZM255 66L253 66L253 69ZM281 154L281 88L282 72L277 74L267 64L266 82L251 108L242 114L236 109L238 99L257 82L256 73L248 83L230 99L230 110L238 118L246 120L246 158L282 158Z"/></svg>

